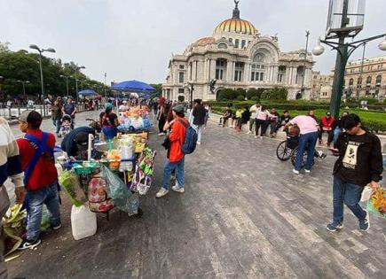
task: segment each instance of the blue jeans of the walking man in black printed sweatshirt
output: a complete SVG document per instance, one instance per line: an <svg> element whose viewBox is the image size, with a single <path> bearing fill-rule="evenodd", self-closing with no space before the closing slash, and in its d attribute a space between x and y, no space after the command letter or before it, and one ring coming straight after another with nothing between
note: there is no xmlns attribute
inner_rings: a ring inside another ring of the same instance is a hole
<svg viewBox="0 0 386 279"><path fill-rule="evenodd" d="M359 221L365 220L366 211L359 205L362 191L362 186L343 182L340 177L334 175L333 204L335 225L343 224L343 203L351 209Z"/></svg>

